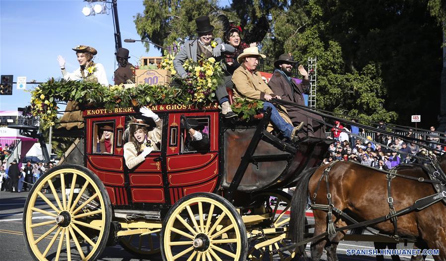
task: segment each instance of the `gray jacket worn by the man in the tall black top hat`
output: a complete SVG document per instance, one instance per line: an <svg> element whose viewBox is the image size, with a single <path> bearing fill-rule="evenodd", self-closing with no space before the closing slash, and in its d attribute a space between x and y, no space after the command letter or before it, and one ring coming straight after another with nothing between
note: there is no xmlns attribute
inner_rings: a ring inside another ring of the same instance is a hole
<svg viewBox="0 0 446 261"><path fill-rule="evenodd" d="M221 41L220 38L214 39L217 44L222 44L223 41ZM196 49L197 49L198 39L195 40L189 40L187 41L183 49L175 56L174 58L174 68L177 71L177 74L179 76L182 76L186 73L186 70L183 68L183 64L187 59L192 59L193 61L196 61ZM225 47L225 52L235 52L235 48L228 44L223 44ZM216 57L218 58L218 57Z"/></svg>

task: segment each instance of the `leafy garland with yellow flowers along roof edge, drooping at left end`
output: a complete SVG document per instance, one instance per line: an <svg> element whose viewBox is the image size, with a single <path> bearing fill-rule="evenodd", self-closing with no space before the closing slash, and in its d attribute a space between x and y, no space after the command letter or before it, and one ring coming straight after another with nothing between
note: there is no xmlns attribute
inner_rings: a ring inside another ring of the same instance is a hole
<svg viewBox="0 0 446 261"><path fill-rule="evenodd" d="M40 117L43 128L55 125L57 101L75 101L81 105L95 104L98 107L143 106L151 104L181 104L181 90L163 85L140 84L134 88L124 85L102 86L99 83L82 81L56 81L53 78L31 91L31 111Z"/></svg>

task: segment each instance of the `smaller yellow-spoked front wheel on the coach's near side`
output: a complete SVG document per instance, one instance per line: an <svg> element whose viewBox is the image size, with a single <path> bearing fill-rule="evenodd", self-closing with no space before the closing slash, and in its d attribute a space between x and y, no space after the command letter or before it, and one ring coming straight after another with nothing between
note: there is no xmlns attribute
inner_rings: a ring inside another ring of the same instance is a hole
<svg viewBox="0 0 446 261"><path fill-rule="evenodd" d="M168 211L161 230L164 261L246 261L245 224L235 207L212 193L194 193Z"/></svg>

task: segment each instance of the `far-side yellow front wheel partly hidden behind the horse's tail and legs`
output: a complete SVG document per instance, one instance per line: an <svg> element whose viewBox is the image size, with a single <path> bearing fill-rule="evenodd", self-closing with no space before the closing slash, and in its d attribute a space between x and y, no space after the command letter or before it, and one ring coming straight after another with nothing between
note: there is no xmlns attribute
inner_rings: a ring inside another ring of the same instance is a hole
<svg viewBox="0 0 446 261"><path fill-rule="evenodd" d="M267 227L287 227L289 224L289 213L291 206L292 196L282 190L263 191L256 193L253 196L253 207L263 206L267 212L271 213L268 219ZM308 228L307 228L308 229ZM286 247L291 244L291 240L286 237L268 245L261 249L255 249L254 245L260 242L264 242L270 238L279 236L279 234L273 234L271 236L265 236L258 240L253 240L248 251L249 261L261 261L261 260L278 260L278 261L294 261L298 260L296 253L293 252L278 252L277 250L282 247Z"/></svg>

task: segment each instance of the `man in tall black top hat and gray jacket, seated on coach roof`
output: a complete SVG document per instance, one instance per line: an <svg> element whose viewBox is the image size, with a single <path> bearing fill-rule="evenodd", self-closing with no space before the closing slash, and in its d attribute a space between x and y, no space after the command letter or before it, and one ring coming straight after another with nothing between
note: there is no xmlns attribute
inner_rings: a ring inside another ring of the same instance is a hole
<svg viewBox="0 0 446 261"><path fill-rule="evenodd" d="M174 68L177 71L177 74L183 79L188 77L186 70L183 68L183 64L186 60L192 59L196 62L200 59L215 57L215 59L219 61L223 58L222 53L235 51L234 47L224 44L220 38L213 39L212 32L214 31L214 27L210 24L208 16L200 16L195 19L195 22L198 39L187 41L184 44L184 48L181 49L173 60ZM212 47L212 41L215 41L217 46ZM218 86L215 94L219 104L221 105L221 110L224 117L231 118L236 116L231 109L231 105L229 104L229 96L228 92L226 91L226 86L224 84Z"/></svg>

